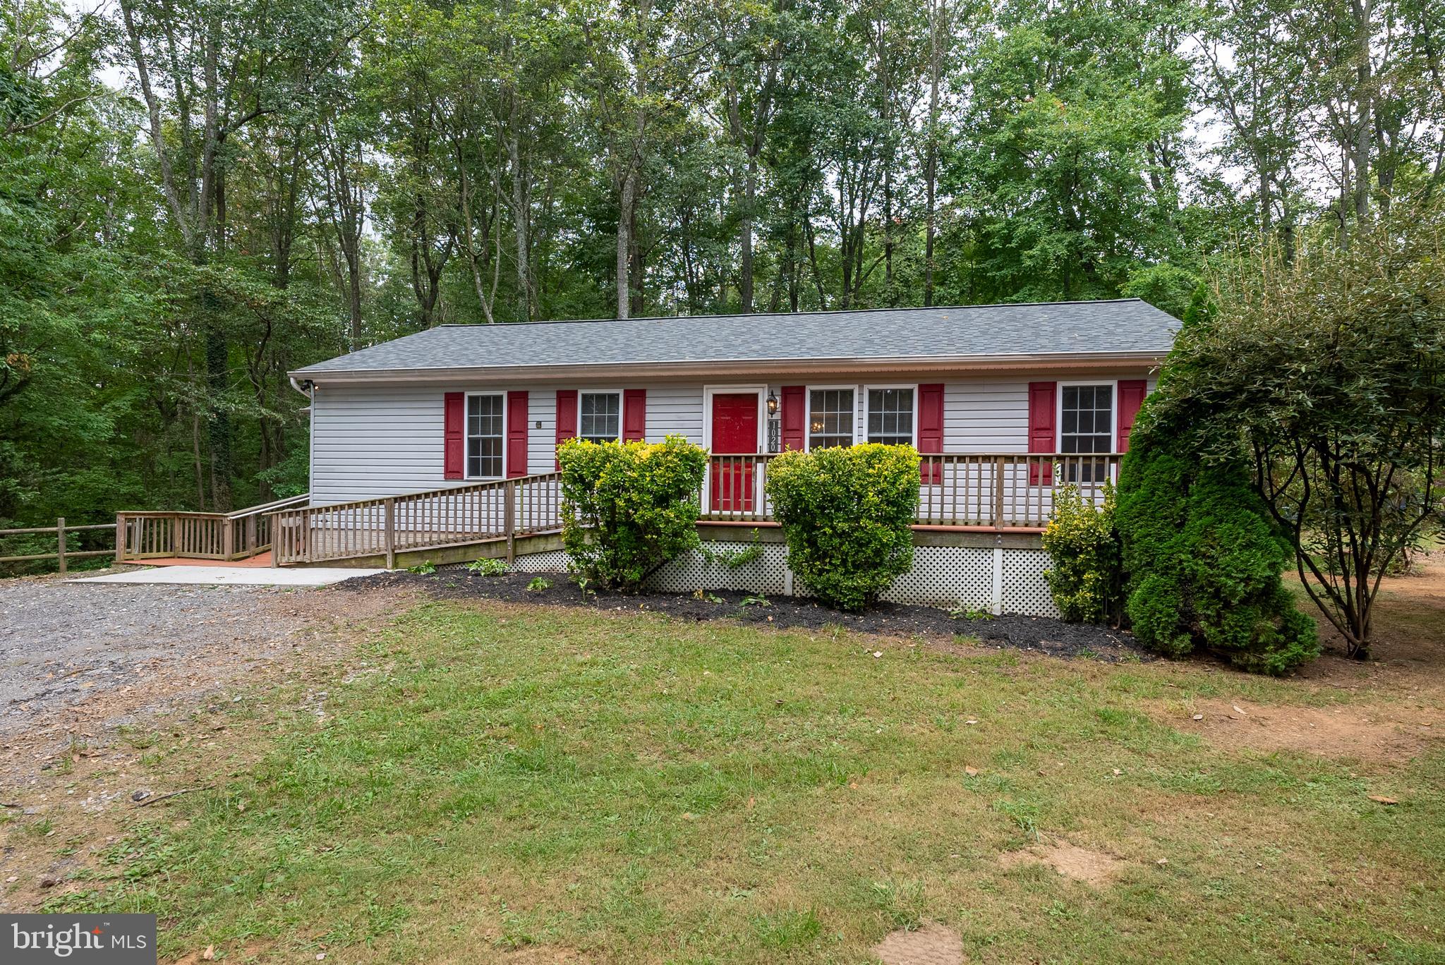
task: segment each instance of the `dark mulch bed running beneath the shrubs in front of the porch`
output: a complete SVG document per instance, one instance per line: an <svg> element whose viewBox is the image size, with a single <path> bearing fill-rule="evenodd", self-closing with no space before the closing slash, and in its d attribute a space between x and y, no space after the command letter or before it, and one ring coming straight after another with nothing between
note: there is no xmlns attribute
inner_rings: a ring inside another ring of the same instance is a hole
<svg viewBox="0 0 1445 965"><path fill-rule="evenodd" d="M529 591L527 584L542 576L551 587ZM1110 663L1118 660L1149 660L1153 654L1143 650L1129 633L1120 633L1092 624L1069 624L1049 617L1001 615L984 620L954 617L936 607L915 607L905 604L879 604L871 610L853 614L831 610L815 600L803 597L772 597L767 605L750 602L749 594L718 589L702 598L694 594L610 594L588 592L566 574L504 574L481 576L461 566L444 566L435 574L412 574L394 571L358 576L338 584L338 591L361 591L380 588L420 589L436 600L499 600L506 602L551 604L561 607L591 607L595 610L644 610L663 613L681 620L731 620L743 624L762 624L779 628L819 630L842 627L854 633L870 633L889 637L975 637L988 646L1036 650L1051 656L1090 656ZM721 602L717 602L721 600ZM753 597L757 600L757 597Z"/></svg>

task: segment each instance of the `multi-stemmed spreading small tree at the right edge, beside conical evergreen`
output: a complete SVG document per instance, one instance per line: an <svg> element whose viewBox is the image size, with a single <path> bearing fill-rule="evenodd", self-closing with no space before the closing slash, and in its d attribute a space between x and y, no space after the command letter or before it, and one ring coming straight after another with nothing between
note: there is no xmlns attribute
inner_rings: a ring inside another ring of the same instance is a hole
<svg viewBox="0 0 1445 965"><path fill-rule="evenodd" d="M1445 497L1445 207L1298 244L1228 260L1155 404L1205 459L1243 443L1305 591L1366 656L1380 574Z"/></svg>

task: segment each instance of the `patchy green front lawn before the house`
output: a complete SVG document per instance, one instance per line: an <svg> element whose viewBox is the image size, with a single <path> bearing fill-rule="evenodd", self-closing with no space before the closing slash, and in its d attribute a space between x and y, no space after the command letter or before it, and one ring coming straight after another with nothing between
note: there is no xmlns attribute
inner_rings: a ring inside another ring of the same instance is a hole
<svg viewBox="0 0 1445 965"><path fill-rule="evenodd" d="M1390 699L426 604L218 747L159 735L152 786L212 790L127 813L52 907L156 912L163 961L847 962L929 919L972 961L1445 959L1445 754L1217 750L1172 725L1205 698ZM1056 838L1118 874L1000 864Z"/></svg>

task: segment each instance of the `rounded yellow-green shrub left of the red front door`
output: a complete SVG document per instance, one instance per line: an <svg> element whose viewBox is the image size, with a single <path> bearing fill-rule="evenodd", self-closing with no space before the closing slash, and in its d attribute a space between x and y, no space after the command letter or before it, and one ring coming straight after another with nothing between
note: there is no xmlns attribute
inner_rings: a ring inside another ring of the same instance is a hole
<svg viewBox="0 0 1445 965"><path fill-rule="evenodd" d="M665 442L585 442L558 448L562 545L587 582L636 591L659 566L698 545L698 498L708 452Z"/></svg>

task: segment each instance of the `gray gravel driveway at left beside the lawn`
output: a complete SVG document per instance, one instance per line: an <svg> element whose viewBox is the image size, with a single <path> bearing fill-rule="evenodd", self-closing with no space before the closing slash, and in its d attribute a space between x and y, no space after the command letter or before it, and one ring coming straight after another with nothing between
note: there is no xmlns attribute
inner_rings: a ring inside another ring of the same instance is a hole
<svg viewBox="0 0 1445 965"><path fill-rule="evenodd" d="M194 705L394 594L0 579L0 786L69 741Z"/></svg>

